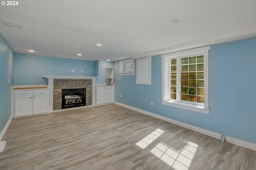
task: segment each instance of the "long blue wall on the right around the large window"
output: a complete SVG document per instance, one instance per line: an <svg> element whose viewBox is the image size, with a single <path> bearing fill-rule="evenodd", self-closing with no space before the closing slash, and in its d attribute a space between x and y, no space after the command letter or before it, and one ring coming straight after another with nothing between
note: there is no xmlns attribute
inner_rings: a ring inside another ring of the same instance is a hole
<svg viewBox="0 0 256 170"><path fill-rule="evenodd" d="M152 57L152 85L136 85L136 75L119 75L114 63L115 101L256 144L255 47L256 38L211 45L209 115L161 104L160 55Z"/></svg>

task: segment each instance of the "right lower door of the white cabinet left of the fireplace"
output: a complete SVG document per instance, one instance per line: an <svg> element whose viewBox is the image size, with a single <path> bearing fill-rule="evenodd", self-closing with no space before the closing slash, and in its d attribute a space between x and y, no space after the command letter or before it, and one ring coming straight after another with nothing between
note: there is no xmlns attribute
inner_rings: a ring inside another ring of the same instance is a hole
<svg viewBox="0 0 256 170"><path fill-rule="evenodd" d="M49 95L38 95L33 97L33 114L48 113Z"/></svg>

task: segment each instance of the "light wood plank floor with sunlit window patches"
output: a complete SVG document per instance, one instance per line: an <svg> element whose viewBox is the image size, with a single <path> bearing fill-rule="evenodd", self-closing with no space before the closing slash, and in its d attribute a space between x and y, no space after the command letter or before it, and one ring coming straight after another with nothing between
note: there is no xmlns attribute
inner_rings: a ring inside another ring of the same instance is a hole
<svg viewBox="0 0 256 170"><path fill-rule="evenodd" d="M111 104L10 123L0 170L256 170L256 151Z"/></svg>

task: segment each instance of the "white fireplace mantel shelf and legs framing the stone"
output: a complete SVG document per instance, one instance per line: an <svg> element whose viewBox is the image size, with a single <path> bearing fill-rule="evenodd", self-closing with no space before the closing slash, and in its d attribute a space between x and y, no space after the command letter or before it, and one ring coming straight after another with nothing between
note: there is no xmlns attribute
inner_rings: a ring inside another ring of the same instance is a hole
<svg viewBox="0 0 256 170"><path fill-rule="evenodd" d="M48 79L48 88L50 90L49 95L49 112L53 112L53 81L54 79L91 79L92 80L92 106L96 103L96 91L95 91L95 79L98 77L78 77L78 76L45 76L42 77Z"/></svg>

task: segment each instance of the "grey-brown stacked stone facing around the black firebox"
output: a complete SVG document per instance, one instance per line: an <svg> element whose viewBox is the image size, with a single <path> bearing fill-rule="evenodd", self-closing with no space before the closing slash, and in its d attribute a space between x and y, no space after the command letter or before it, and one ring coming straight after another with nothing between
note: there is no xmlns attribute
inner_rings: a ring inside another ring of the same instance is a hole
<svg viewBox="0 0 256 170"><path fill-rule="evenodd" d="M54 79L53 110L61 109L62 89L86 88L86 106L92 105L92 79Z"/></svg>

